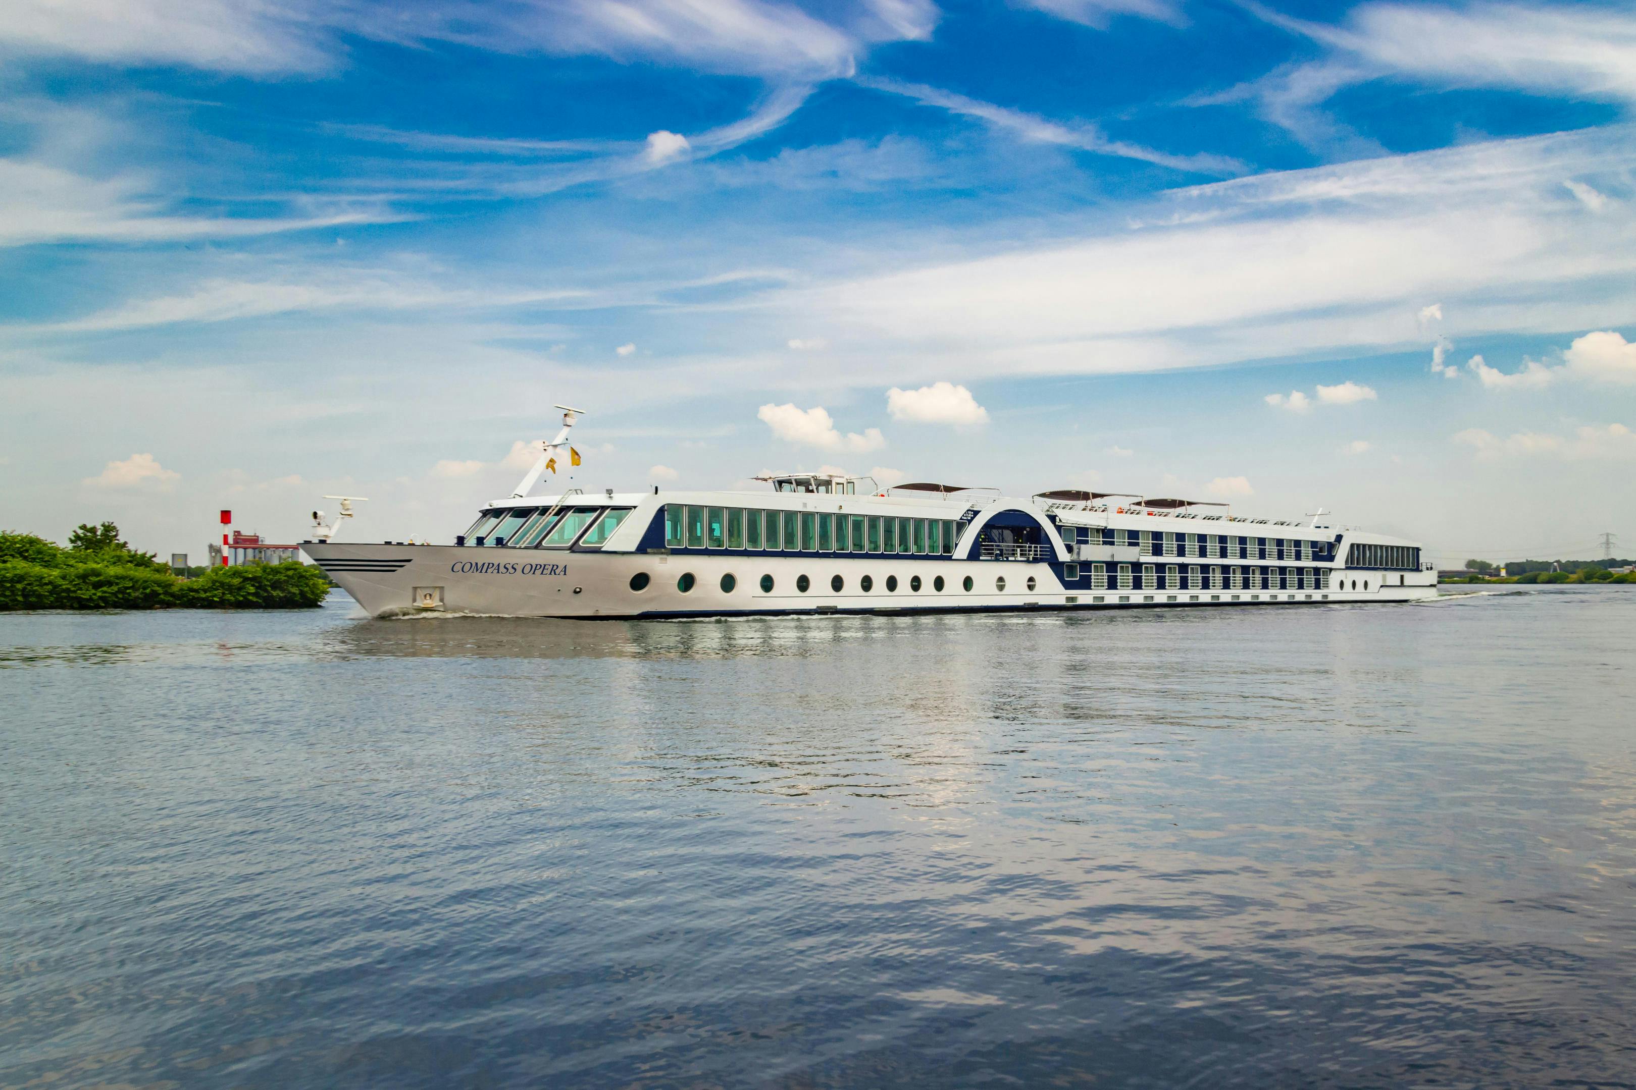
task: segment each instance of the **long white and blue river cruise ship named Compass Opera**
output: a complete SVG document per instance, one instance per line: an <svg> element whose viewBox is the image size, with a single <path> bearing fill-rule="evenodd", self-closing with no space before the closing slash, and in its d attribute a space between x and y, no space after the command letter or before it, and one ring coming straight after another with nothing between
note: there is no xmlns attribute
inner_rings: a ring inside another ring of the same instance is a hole
<svg viewBox="0 0 1636 1090"><path fill-rule="evenodd" d="M1436 595L1418 543L1225 505L844 474L766 474L761 492L515 494L453 544L303 549L376 616L699 618L784 613L1139 610L1415 601ZM350 513L350 508L348 508ZM337 520L339 525L339 520Z"/></svg>

